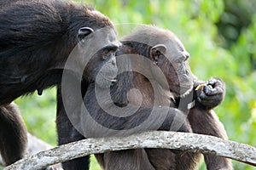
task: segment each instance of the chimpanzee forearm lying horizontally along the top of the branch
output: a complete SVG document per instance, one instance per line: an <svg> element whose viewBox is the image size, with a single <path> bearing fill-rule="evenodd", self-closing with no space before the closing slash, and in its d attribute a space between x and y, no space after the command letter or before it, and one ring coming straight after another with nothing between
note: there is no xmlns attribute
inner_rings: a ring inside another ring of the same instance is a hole
<svg viewBox="0 0 256 170"><path fill-rule="evenodd" d="M120 108L109 98L104 99L104 90L100 90L90 84L84 96L80 125L85 137L124 136L158 129L190 132L183 111L169 106ZM101 95L97 97L96 93Z"/></svg>

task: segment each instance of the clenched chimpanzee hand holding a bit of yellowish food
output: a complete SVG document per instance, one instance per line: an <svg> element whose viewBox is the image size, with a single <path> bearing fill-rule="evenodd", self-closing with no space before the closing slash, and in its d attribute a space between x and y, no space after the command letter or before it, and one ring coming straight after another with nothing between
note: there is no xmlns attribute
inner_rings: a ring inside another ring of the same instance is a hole
<svg viewBox="0 0 256 170"><path fill-rule="evenodd" d="M224 99L225 85L220 79L211 78L207 83L199 85L195 90L197 102L207 107L207 109L212 109Z"/></svg>

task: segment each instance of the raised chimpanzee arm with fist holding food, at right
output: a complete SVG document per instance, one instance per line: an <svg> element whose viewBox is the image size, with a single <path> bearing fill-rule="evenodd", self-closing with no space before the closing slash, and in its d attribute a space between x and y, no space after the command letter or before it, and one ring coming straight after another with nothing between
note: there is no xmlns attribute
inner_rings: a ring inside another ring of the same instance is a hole
<svg viewBox="0 0 256 170"><path fill-rule="evenodd" d="M195 82L194 89L201 82ZM210 79L206 86L195 90L195 107L189 111L189 122L193 133L201 133L228 139L224 125L218 120L218 116L211 109L221 103L224 99L224 82L220 79ZM233 169L230 159L204 155L208 170Z"/></svg>

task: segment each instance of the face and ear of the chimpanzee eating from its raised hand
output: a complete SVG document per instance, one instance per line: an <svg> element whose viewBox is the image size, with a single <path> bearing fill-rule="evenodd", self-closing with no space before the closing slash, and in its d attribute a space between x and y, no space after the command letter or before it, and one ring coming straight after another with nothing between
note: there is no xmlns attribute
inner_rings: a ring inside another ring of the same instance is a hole
<svg viewBox="0 0 256 170"><path fill-rule="evenodd" d="M177 37L172 35L166 42L156 44L149 49L149 55L153 64L159 66L160 71L164 73L169 89L174 95L189 93L193 88L193 75L188 64L189 53Z"/></svg>

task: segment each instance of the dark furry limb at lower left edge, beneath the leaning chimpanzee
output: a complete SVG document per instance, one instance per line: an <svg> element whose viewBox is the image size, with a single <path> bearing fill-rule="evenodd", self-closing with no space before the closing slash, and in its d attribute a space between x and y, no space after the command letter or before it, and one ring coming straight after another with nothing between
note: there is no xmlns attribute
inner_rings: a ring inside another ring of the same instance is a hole
<svg viewBox="0 0 256 170"><path fill-rule="evenodd" d="M25 155L26 127L15 103L0 106L0 152L5 165Z"/></svg>

